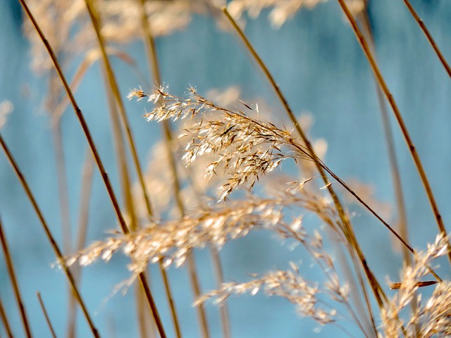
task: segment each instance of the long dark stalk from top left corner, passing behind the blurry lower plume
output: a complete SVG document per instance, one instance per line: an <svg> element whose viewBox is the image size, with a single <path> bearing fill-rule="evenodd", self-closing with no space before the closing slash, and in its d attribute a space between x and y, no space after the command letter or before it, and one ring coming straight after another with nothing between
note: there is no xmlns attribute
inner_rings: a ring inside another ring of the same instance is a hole
<svg viewBox="0 0 451 338"><path fill-rule="evenodd" d="M51 49L49 42L47 41L44 34L42 33L42 30L39 28L39 25L37 25L37 22L36 22L35 18L33 17L32 13L30 12L30 9L28 8L27 4L25 3L25 0L19 0L19 1L20 1L20 4L22 4L23 8L25 9L27 16L32 21L32 24L35 26L35 29L36 29L37 33L39 34L39 37L41 37L42 42L46 46L47 51L49 52L49 56L54 63L55 69L61 79L61 82L63 82L63 86L64 86L64 89L66 90L66 94L69 96L70 103L72 104L73 109L75 111L75 115L77 115L77 118L80 121L82 130L85 133L85 137L89 144L89 148L92 151L92 156L94 156L94 160L96 161L97 167L99 168L100 175L102 177L102 180L104 181L106 190L111 199L111 204L113 205L114 211L116 213L116 217L118 218L119 225L121 226L123 233L128 234L128 233L130 233L130 231L128 230L128 227L127 227L125 220L123 218L123 215L121 213L121 208L119 207L118 200L116 199L116 195L114 194L113 187L111 186L111 182L109 181L108 174L106 173L104 164L101 161L101 158L97 151L97 147L94 144L94 140L92 139L91 132L89 131L89 127L87 126L85 117L82 114L82 111L80 110L80 107L78 106L77 102L75 101L75 97L73 96L72 90L70 89L68 82L66 80L66 77L64 76L63 71L61 70L61 67L58 63L58 59L56 58L53 49ZM166 333L164 332L164 329L163 329L163 324L161 323L161 319L160 319L158 310L156 308L156 304L154 302L154 297L152 296L152 293L150 292L149 285L146 284L147 278L144 275L144 273L140 273L139 277L140 277L140 282L142 284L142 287L144 288L144 292L146 294L147 301L149 302L149 306L152 310L152 314L154 315L155 323L159 329L159 333L160 333L161 337L166 337Z"/></svg>

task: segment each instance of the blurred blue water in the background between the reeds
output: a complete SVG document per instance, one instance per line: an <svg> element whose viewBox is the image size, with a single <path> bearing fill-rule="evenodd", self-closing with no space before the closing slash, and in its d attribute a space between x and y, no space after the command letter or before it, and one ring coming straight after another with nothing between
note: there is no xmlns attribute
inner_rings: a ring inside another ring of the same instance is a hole
<svg viewBox="0 0 451 338"><path fill-rule="evenodd" d="M450 61L451 2L412 0L412 4L445 58ZM450 78L401 0L371 1L370 14L382 73L411 132L430 177L443 220L450 230ZM8 99L15 106L1 132L29 180L51 230L61 242L52 136L48 115L42 109L46 82L30 71L31 56L29 44L21 34L22 20L20 6L15 1L0 0L0 101ZM301 11L280 30L273 30L266 15L261 15L258 20L249 20L246 33L276 77L293 110L297 114L309 111L313 115L315 123L311 136L324 138L328 142L325 158L328 166L345 180L357 179L373 184L376 199L393 206L394 210L393 184L371 70L338 4L329 1L314 10ZM205 93L211 88L226 89L238 84L243 99L248 102L264 99L273 108L273 113L283 114L283 109L278 106L276 97L252 64L247 51L233 35L218 30L211 18L194 17L184 32L157 39L157 48L163 79L171 86L171 91L183 93L192 84L200 93ZM126 50L147 74L141 44L131 44ZM114 65L124 96L132 87L142 84L142 80L127 65L120 62ZM89 70L76 96L118 190L109 115L99 74L97 66ZM148 158L152 144L159 136L159 126L146 123L141 118L142 104L126 104L140 156ZM415 248L421 249L426 242L434 239L437 230L400 130L396 125L393 130L400 158L411 242ZM63 142L66 154L70 154L66 156L66 161L70 180L71 222L75 224L79 207L80 168L86 145L72 111L67 111L63 117ZM354 225L376 275L381 280L385 276L396 280L402 263L400 253L393 251L388 232L358 206L350 208L357 211ZM66 280L60 270L50 268L54 255L4 156L0 156L0 211L32 331L36 337L49 336L35 297L35 292L39 291L56 332L63 337L66 328ZM392 214L389 219L395 221L396 215ZM104 232L114 227L116 223L111 206L96 174L89 241L104 237ZM249 273L286 268L287 259L299 259L300 254L290 252L278 239L261 232L226 245L221 256L226 279L244 281ZM214 287L214 277L210 273L209 256L199 251L196 257L202 272L202 286L211 289ZM6 267L3 259L1 261L0 296L13 329L20 337L20 318ZM97 313L94 322L104 337L137 335L132 290L125 296L113 296L104 305L113 287L127 277L127 262L117 255L111 263L97 263L83 273L82 295L89 310ZM443 263L446 266L446 262ZM309 275L308 266L303 269ZM440 270L440 273L442 277L450 277L447 268ZM311 274L311 279L314 279ZM156 272L154 275L159 276ZM169 275L184 336L199 337L194 311L190 308L192 298L187 274L184 269L171 269ZM161 290L159 280L159 277L154 279L157 290ZM156 302L166 327L171 330L166 301L158 292ZM233 297L229 306L233 337L339 337L342 334L336 328L326 327L315 332L317 325L309 319L299 319L295 309L283 299L261 295ZM212 337L221 337L214 306L209 306L209 318ZM81 316L78 323L78 337L89 337ZM349 330L359 337L359 332L352 325Z"/></svg>

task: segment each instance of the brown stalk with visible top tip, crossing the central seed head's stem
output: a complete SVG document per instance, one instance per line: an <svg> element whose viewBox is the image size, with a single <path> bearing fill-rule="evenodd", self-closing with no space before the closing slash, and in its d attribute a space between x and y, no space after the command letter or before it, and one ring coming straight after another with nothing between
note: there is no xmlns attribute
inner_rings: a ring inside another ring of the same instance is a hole
<svg viewBox="0 0 451 338"><path fill-rule="evenodd" d="M276 95L278 96L278 99L280 99L281 104L285 108L285 111L287 112L288 117L290 118L293 125L295 126L297 133L301 137L304 144L307 146L307 150L309 151L309 154L311 155L312 158L317 158L315 151L313 149L313 146L311 146L311 143L309 142L309 139L307 138L307 135L304 133L304 131L302 130L301 126L299 125L297 119L295 118L295 115L292 113L292 109L290 108L288 101L285 99L285 96L283 95L282 91L278 87L278 84L276 83L273 76L269 72L265 63L261 60L260 56L257 54L257 51L255 51L254 47L252 46L252 44L250 44L250 42L247 39L247 37L245 36L244 32L242 32L241 28L237 25L237 23L232 18L230 13L228 13L228 11L225 7L223 7L223 13L226 15L226 18L228 18L230 24L235 29L235 32L237 32L237 35L240 36L240 38L242 39L242 42L245 44L245 46L247 47L249 52L254 57L255 61L257 62L257 64L263 71L264 75L266 76L268 82L271 84L271 87L273 87L274 91L276 92ZM354 230L352 229L352 225L350 225L349 218L347 218L347 215L346 215L344 209L342 208L342 204L341 204L340 200L338 199L337 194L335 194L335 191L333 190L330 182L328 181L328 177L327 177L326 173L324 172L321 165L319 163L316 163L316 161L315 161L315 165L316 165L317 170L320 173L320 176L323 178L323 181L326 184L328 192L334 201L335 208L337 209L338 214L340 215L340 219L342 220L343 233L345 234L345 237L348 239L352 248L354 249L354 251L350 250L350 255L352 257L352 261L354 261L355 255L357 254L357 257L358 257L359 261L362 263L362 267L364 268L366 276L369 280L371 289L373 289L373 294L376 297L376 300L378 301L378 305L379 305L379 307L382 307L383 306L382 299L386 298L385 293L383 292L383 289L381 288L380 284L376 280L376 277L373 275L373 273L369 269L368 265L366 264L366 259L362 252L362 249L360 248L359 244L357 243L357 239L355 238ZM374 323L374 318L373 318L372 311L371 311L369 297L366 294L366 287L363 282L362 275L360 275L360 270L357 269L357 267L356 267L356 272L357 272L357 277L359 279L359 283L362 287L362 291L364 292L364 299L366 302L366 307L369 311L369 314L371 315L371 323L373 325L373 331L377 332L376 324Z"/></svg>

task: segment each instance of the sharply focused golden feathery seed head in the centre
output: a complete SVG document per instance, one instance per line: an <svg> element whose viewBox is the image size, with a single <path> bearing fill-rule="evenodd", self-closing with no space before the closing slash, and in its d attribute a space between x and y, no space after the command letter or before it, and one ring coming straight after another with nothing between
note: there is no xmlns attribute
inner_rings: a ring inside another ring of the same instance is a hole
<svg viewBox="0 0 451 338"><path fill-rule="evenodd" d="M220 168L228 174L227 182L219 189L221 199L226 199L233 190L243 185L252 189L260 176L276 169L288 158L295 161L311 159L290 131L249 117L247 113L258 117L259 111L245 103L242 103L242 107L247 113L240 109L232 111L204 99L193 88L190 89L188 99L168 94L164 88L156 89L149 95L134 91L129 97L147 97L155 105L145 115L148 120L179 120L202 115L202 119L194 123L193 127L185 129L185 135L191 140L185 149L183 161L190 165L205 154L215 154L205 175L210 178Z"/></svg>

